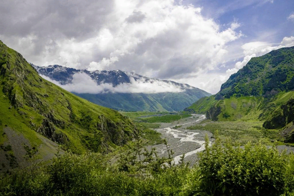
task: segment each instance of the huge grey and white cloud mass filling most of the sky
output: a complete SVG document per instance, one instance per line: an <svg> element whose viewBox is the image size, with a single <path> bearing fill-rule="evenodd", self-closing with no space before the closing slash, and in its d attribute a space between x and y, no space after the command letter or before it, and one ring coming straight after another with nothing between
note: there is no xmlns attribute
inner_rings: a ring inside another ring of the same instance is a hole
<svg viewBox="0 0 294 196"><path fill-rule="evenodd" d="M0 39L38 65L179 79L216 69L242 36L237 22L201 11L176 0L11 0L1 3L0 13L13 14L3 14Z"/></svg>

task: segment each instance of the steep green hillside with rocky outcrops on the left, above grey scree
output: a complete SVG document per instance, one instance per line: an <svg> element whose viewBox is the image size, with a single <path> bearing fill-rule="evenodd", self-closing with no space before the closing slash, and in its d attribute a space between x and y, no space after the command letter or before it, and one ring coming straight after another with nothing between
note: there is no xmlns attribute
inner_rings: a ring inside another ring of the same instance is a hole
<svg viewBox="0 0 294 196"><path fill-rule="evenodd" d="M53 142L76 153L97 152L125 144L136 134L127 117L42 79L21 54L1 41L0 88L0 155L14 156L23 151L14 146L28 146L39 149L42 156L48 153L42 147L56 149ZM23 137L26 144L13 146L17 141L9 137L11 132Z"/></svg>

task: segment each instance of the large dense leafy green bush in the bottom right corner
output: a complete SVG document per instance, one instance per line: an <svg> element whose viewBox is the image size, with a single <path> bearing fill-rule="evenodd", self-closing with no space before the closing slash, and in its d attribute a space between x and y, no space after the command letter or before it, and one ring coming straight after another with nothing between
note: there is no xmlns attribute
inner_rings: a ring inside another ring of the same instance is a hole
<svg viewBox="0 0 294 196"><path fill-rule="evenodd" d="M207 142L206 142L207 143ZM215 144L200 154L197 195L281 195L293 191L293 155L248 143L245 148Z"/></svg>

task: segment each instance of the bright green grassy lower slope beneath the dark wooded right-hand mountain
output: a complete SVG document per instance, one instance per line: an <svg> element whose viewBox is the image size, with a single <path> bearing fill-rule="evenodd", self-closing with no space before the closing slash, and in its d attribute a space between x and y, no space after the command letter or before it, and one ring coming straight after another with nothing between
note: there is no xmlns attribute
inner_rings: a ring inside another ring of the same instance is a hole
<svg viewBox="0 0 294 196"><path fill-rule="evenodd" d="M186 111L206 114L208 119L220 121L267 120L274 115L274 111L280 111L279 108L294 97L294 92L256 97L232 97L221 100L216 100L216 96L203 97L188 107Z"/></svg>

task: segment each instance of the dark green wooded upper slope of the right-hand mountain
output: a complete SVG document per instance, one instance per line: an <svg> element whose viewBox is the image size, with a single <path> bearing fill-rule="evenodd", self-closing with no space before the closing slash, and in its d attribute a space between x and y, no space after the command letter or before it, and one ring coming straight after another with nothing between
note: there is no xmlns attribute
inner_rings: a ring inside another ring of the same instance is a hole
<svg viewBox="0 0 294 196"><path fill-rule="evenodd" d="M222 84L217 99L257 96L294 89L294 46L253 57Z"/></svg>

